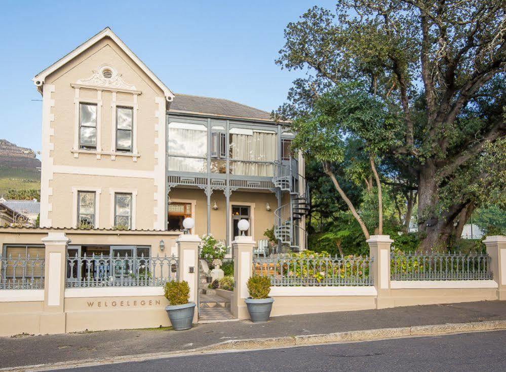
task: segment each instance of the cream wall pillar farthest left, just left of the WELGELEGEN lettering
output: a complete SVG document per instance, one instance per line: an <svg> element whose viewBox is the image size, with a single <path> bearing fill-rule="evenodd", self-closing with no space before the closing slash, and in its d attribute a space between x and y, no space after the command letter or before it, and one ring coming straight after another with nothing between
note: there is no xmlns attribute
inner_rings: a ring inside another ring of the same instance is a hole
<svg viewBox="0 0 506 372"><path fill-rule="evenodd" d="M65 269L69 241L65 233L48 233L42 238L46 246L42 334L65 333Z"/></svg>

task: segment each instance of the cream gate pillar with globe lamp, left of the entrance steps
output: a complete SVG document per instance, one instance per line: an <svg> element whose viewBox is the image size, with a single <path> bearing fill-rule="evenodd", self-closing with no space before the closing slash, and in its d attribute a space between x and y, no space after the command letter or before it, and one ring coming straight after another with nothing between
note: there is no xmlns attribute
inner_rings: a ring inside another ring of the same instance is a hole
<svg viewBox="0 0 506 372"><path fill-rule="evenodd" d="M193 315L193 323L199 320L199 245L201 240L198 235L180 235L176 240L179 271L178 280L187 281L190 287L189 302L197 304Z"/></svg>

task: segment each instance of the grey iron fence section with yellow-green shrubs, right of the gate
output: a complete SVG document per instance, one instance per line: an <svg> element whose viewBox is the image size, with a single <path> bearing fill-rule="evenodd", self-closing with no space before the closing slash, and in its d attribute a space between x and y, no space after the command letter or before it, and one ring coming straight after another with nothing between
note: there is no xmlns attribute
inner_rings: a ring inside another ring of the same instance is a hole
<svg viewBox="0 0 506 372"><path fill-rule="evenodd" d="M253 275L268 276L274 286L374 285L372 258L277 254L253 258Z"/></svg>

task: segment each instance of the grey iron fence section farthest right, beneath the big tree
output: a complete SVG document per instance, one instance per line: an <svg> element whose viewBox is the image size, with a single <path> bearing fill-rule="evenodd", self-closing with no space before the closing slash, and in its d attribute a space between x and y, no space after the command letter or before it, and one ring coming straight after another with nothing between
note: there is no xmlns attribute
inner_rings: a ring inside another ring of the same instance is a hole
<svg viewBox="0 0 506 372"><path fill-rule="evenodd" d="M392 280L486 280L492 277L488 254L391 253Z"/></svg>

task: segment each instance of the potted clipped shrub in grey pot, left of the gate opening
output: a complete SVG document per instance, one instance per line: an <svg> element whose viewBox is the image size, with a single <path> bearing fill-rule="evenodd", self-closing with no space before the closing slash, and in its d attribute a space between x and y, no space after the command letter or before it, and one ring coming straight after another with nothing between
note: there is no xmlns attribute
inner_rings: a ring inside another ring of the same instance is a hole
<svg viewBox="0 0 506 372"><path fill-rule="evenodd" d="M195 303L188 302L190 297L188 282L170 281L165 284L165 297L170 305L165 307L172 327L175 330L190 329L195 312Z"/></svg>

